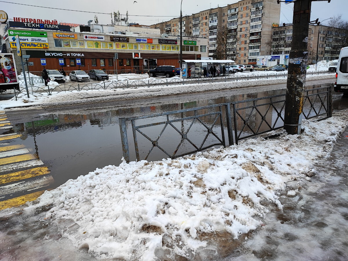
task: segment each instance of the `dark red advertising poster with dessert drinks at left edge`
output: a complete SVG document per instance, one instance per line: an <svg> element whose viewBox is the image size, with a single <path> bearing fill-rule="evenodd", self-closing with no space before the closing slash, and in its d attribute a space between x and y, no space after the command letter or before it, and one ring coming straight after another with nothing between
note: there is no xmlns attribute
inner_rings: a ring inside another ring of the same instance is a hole
<svg viewBox="0 0 348 261"><path fill-rule="evenodd" d="M13 54L0 53L0 85L18 83Z"/></svg>

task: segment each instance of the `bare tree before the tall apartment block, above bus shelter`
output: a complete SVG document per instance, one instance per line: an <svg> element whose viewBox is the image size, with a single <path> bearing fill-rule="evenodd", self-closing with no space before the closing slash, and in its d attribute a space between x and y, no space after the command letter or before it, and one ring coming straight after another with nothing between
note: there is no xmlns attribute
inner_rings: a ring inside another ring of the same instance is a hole
<svg viewBox="0 0 348 261"><path fill-rule="evenodd" d="M216 42L217 42L217 59L227 59L235 55L236 50L236 31L235 29L228 29L223 27L217 29Z"/></svg>

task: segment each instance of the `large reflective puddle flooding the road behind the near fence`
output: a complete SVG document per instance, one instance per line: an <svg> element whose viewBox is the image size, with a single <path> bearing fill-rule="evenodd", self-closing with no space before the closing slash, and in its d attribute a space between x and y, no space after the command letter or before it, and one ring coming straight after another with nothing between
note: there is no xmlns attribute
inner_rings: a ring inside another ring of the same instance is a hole
<svg viewBox="0 0 348 261"><path fill-rule="evenodd" d="M283 90L284 92L284 90ZM140 106L129 109L110 109L103 110L100 108L97 112L86 114L85 111L77 111L75 114L60 114L58 111L54 114L40 116L35 121L24 121L16 124L15 131L22 134L21 143L31 147L36 151L40 159L48 165L51 174L55 180L55 186L59 186L69 179L75 179L79 175L85 175L95 168L102 168L107 165L119 165L122 158L122 146L120 140L119 117L134 117L152 113L174 111L181 109L194 108L198 106L219 104L232 101L242 101L250 98L259 98L270 95L281 94L281 91L268 91L263 93L247 93L239 95L224 96L214 99L192 101L187 103L162 104L159 106ZM280 108L279 108L280 109ZM260 108L261 113L265 114L268 121L272 124L276 122L277 113L274 109L263 106ZM207 110L209 112L209 110ZM251 116L258 113L250 111ZM225 113L223 113L225 115ZM186 116L189 116L186 115ZM183 115L177 116L183 117ZM207 126L212 125L216 116L206 116L203 122ZM142 124L149 124L149 121L142 120ZM175 123L175 127L181 132L185 132L191 125L192 120L184 120ZM257 117L248 117L248 123L251 127L258 127L260 119ZM239 122L242 124L242 122ZM201 125L201 124L200 124ZM269 128L268 126L261 126ZM156 129L147 130L151 138L156 138L163 126L157 126ZM220 119L217 119L214 126L214 132L221 137ZM227 132L225 130L225 138ZM198 126L198 122L191 126L188 138L198 145L203 142L206 135L206 129ZM210 134L209 134L210 135ZM128 139L132 138L132 132L128 134ZM151 149L151 142L144 137L137 135L139 150L145 155ZM181 134L173 127L168 128L161 135L159 144L171 153L177 149L181 140ZM145 142L146 141L146 142ZM208 137L208 142L216 143L214 136ZM19 142L19 141L18 141ZM226 142L228 144L228 141ZM130 143L131 159L135 159L134 144ZM178 154L192 149L192 144L184 141L178 150ZM160 160L166 158L162 151L155 148L151 152L149 160Z"/></svg>

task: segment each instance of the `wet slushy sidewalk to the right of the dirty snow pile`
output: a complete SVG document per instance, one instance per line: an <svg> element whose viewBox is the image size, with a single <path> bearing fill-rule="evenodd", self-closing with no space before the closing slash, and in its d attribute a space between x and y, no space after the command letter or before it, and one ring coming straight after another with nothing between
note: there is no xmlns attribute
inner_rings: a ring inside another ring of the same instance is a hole
<svg viewBox="0 0 348 261"><path fill-rule="evenodd" d="M293 197L282 196L274 209L227 260L348 260L348 129L329 158L307 181L287 183Z"/></svg>

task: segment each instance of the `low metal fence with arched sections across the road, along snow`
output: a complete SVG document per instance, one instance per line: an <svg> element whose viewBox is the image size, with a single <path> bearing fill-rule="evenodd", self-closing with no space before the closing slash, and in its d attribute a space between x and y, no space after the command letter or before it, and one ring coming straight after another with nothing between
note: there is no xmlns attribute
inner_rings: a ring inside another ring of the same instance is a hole
<svg viewBox="0 0 348 261"><path fill-rule="evenodd" d="M332 74L329 71L315 71L309 72L308 75L319 75L319 74ZM257 74L257 75L235 75L229 74L226 76L219 77L192 77L189 79L180 79L180 78L164 78L164 79L143 79L143 80L127 80L127 81L103 81L103 82L93 82L80 86L73 86L69 84L51 86L51 87L43 87L43 86L35 86L35 82L41 82L42 78L31 78L33 84L29 86L29 94L33 95L52 95L53 93L60 92L80 92L82 90L114 90L114 89L128 89L128 88L150 88L150 87L167 87L173 85L185 85L185 84L202 84L202 83L210 83L210 82L227 82L227 81L248 81L248 80L261 80L261 79L278 79L287 77L287 73L269 73L269 74ZM21 79L21 82L24 82ZM106 82L106 83L105 83ZM22 85L23 86L23 85ZM18 91L15 90L16 98L22 97L26 94L26 89L21 88Z"/></svg>

